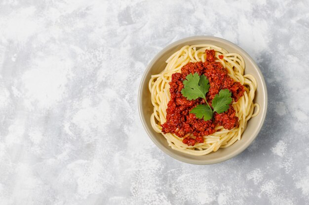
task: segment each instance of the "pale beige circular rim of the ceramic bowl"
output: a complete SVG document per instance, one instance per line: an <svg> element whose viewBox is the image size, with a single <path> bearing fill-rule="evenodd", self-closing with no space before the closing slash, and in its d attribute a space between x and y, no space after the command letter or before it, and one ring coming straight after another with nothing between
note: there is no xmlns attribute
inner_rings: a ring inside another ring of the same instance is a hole
<svg viewBox="0 0 309 205"><path fill-rule="evenodd" d="M173 150L170 146L168 146L168 147L162 146L161 144L159 144L158 141L156 141L154 139L154 136L152 136L152 134L149 131L149 128L146 126L146 118L142 114L142 109L143 109L142 108L142 100L143 100L142 99L142 88L143 88L143 85L145 84L145 79L146 79L147 75L149 75L150 69L153 66L154 62L157 61L166 52L166 50L169 50L173 47L176 47L177 45L182 44L182 43L189 41L189 40L214 40L214 41L221 41L223 43L230 44L232 47L235 47L236 49L238 49L241 52L242 56L245 55L249 59L249 61L254 65L255 69L257 70L259 78L262 81L262 85L259 85L259 86L261 86L262 90L264 90L264 92L262 93L262 95L264 95L264 98L265 98L264 105L263 105L264 106L264 112L262 113L262 117L261 117L262 121L259 124L257 131L254 133L253 137L251 137L245 144L240 146L238 149L235 149L232 153L224 155L220 158L208 159L208 160L197 160L197 159L188 159L184 156L176 155L175 153L173 153L173 151L177 151L177 150ZM244 151L255 140L255 138L260 133L260 131L263 127L263 124L265 122L267 109L268 109L267 86L266 86L266 82L265 82L264 76L262 74L262 71L260 70L260 68L256 64L256 62L251 58L251 56L247 52L245 52L242 48L240 48L238 45L232 43L231 41L228 41L228 40L223 39L223 38L215 37L215 36L208 36L208 35L196 35L196 36L190 36L190 37L182 38L182 39L179 39L175 42L168 44L166 47L161 49L154 56L154 58L148 63L148 65L147 65L147 67L144 71L144 74L142 76L140 86L139 86L139 91L138 91L139 116L140 116L143 127L144 127L148 137L154 142L154 144L159 149L161 149L164 153L168 154L170 157L177 159L179 161L185 162L185 163L196 164L196 165L209 165L209 164L216 164L216 163L224 162L224 161L229 160L232 157L235 157L236 155L240 154L242 151Z"/></svg>

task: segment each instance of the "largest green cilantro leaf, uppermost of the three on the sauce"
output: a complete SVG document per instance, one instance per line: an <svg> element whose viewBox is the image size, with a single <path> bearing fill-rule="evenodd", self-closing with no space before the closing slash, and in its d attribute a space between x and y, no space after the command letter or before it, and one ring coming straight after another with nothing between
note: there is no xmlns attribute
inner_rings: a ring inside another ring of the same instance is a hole
<svg viewBox="0 0 309 205"><path fill-rule="evenodd" d="M205 75L199 76L198 73L190 73L183 81L184 88L181 93L188 100L195 100L199 97L206 100L205 95L209 90L209 81Z"/></svg>

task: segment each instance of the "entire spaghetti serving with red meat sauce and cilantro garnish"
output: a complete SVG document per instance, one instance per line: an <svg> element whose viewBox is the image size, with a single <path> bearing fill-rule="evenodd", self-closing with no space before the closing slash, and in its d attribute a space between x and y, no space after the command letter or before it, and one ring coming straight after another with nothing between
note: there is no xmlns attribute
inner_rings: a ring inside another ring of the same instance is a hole
<svg viewBox="0 0 309 205"><path fill-rule="evenodd" d="M149 81L151 125L168 145L191 155L232 146L259 114L256 79L244 75L236 53L210 45L187 45L166 60Z"/></svg>

